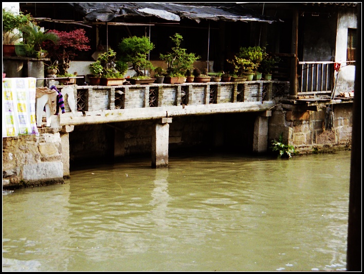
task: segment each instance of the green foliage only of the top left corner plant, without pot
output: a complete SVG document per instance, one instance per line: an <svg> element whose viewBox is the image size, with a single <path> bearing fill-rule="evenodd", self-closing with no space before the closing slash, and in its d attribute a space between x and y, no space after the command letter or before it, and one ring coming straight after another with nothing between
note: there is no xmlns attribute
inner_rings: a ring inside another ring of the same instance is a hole
<svg viewBox="0 0 364 274"><path fill-rule="evenodd" d="M20 12L16 14L8 9L3 8L3 44L13 44L16 40L22 38L22 33L19 31L22 26L32 21L30 14Z"/></svg>

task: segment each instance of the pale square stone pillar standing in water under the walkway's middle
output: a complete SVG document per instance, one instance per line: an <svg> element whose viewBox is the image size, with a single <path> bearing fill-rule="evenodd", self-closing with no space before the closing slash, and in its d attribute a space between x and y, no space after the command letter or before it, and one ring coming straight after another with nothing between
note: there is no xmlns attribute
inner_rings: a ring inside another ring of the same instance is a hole
<svg viewBox="0 0 364 274"><path fill-rule="evenodd" d="M152 133L152 168L168 166L169 123L172 118L162 118L154 125Z"/></svg>

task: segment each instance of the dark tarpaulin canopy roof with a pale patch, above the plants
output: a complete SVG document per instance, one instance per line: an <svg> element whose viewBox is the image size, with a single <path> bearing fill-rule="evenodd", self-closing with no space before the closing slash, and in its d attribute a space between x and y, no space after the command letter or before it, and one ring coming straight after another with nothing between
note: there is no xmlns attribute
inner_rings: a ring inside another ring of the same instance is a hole
<svg viewBox="0 0 364 274"><path fill-rule="evenodd" d="M168 21L187 18L200 22L214 21L279 21L270 16L259 15L236 3L69 3L84 14L86 21L109 22L116 17L156 16Z"/></svg>

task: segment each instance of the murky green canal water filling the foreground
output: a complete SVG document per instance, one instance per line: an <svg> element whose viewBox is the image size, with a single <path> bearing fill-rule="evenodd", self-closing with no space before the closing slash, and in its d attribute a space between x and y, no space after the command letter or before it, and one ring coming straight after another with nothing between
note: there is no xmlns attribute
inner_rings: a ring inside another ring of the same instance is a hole
<svg viewBox="0 0 364 274"><path fill-rule="evenodd" d="M346 270L349 151L169 164L3 192L3 271Z"/></svg>

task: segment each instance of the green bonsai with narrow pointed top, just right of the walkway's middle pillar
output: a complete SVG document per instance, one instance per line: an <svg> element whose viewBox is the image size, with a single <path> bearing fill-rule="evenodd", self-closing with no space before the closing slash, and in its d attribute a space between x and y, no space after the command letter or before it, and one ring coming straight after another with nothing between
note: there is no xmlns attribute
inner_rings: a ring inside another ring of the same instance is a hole
<svg viewBox="0 0 364 274"><path fill-rule="evenodd" d="M187 53L187 49L181 48L183 37L179 33L175 33L170 38L175 46L172 47L171 52L161 53L160 59L168 65L168 76L184 76L187 69L192 69L193 63L201 57L196 56L195 53Z"/></svg>

